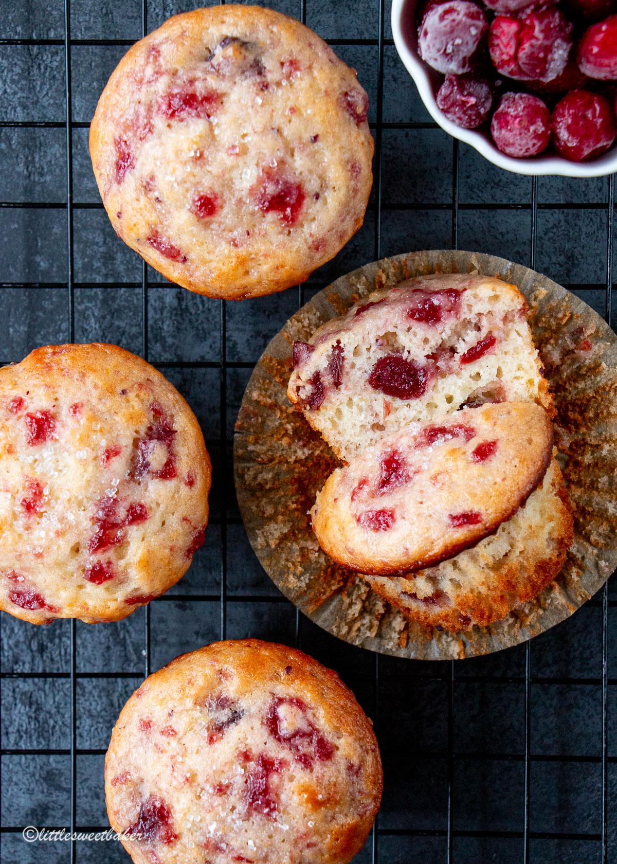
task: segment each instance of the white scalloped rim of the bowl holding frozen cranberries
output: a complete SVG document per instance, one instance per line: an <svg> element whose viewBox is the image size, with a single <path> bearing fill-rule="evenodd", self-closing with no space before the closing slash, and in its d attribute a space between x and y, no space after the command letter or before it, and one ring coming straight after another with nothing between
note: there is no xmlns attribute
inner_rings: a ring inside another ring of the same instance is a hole
<svg viewBox="0 0 617 864"><path fill-rule="evenodd" d="M448 120L436 103L436 93L443 76L431 69L417 53L416 9L418 0L392 0L392 35L404 67L416 82L418 92L430 116L449 135L471 144L489 162L516 174L557 174L565 177L602 177L617 171L617 143L590 162L569 162L550 154L515 159L497 149L490 134L484 130L461 129Z"/></svg>

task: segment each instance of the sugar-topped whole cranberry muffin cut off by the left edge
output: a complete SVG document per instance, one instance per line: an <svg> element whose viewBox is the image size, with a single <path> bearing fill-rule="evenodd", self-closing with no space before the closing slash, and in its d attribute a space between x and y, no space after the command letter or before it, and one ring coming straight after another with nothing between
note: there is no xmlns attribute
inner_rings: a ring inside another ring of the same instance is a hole
<svg viewBox="0 0 617 864"><path fill-rule="evenodd" d="M204 539L210 460L178 391L115 345L37 348L0 369L0 608L124 618Z"/></svg>

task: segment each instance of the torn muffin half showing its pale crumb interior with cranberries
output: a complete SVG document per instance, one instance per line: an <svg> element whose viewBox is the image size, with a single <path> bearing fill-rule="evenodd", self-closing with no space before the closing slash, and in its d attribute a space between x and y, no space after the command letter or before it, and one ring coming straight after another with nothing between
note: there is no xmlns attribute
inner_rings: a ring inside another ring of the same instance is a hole
<svg viewBox="0 0 617 864"><path fill-rule="evenodd" d="M340 459L408 422L486 402L551 410L525 296L488 276L418 276L294 345L288 396Z"/></svg>

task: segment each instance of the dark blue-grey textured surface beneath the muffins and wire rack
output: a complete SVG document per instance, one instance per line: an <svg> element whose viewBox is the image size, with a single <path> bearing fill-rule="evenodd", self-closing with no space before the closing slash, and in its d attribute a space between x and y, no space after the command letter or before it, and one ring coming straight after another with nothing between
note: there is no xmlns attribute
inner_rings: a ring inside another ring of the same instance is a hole
<svg viewBox="0 0 617 864"><path fill-rule="evenodd" d="M150 0L147 29L194 5ZM371 97L376 181L365 225L302 289L221 303L145 270L111 230L92 176L88 122L142 35L142 0L72 0L68 15L61 0L0 0L0 362L71 337L142 354L188 398L214 467L206 544L147 610L98 626L36 627L0 613L3 864L128 861L118 843L29 845L21 830L107 826L105 748L144 674L221 636L249 635L334 667L376 721L384 804L358 864L617 861L610 582L528 647L439 664L373 655L302 619L277 592L247 542L231 479L251 366L298 303L360 264L417 249L490 252L535 266L607 314L612 181L534 183L436 128L398 60L387 0L272 5L303 17L357 68Z"/></svg>

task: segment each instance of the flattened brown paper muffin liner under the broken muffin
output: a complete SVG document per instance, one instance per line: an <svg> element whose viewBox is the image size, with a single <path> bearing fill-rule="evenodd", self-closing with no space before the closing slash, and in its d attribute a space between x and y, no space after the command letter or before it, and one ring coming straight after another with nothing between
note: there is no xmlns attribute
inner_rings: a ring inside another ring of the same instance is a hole
<svg viewBox="0 0 617 864"><path fill-rule="evenodd" d="M429 273L480 273L518 285L555 396L556 442L575 518L575 539L557 579L505 619L470 632L410 622L321 550L309 510L340 464L289 403L295 340L359 297ZM323 289L270 341L242 400L233 447L236 491L251 546L283 594L315 624L352 645L397 657L443 660L499 651L576 611L617 567L617 337L578 297L504 258L423 251L366 264Z"/></svg>

